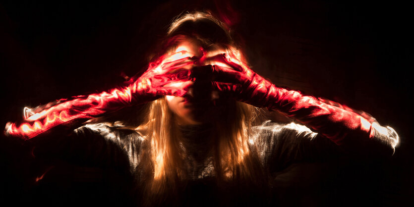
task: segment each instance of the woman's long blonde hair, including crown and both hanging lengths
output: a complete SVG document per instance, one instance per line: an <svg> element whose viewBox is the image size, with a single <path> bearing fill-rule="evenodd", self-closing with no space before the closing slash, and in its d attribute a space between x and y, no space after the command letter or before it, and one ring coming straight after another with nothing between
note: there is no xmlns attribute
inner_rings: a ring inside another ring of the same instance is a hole
<svg viewBox="0 0 414 207"><path fill-rule="evenodd" d="M200 25L197 25L198 23ZM210 28L216 27L213 34L192 31L200 30L205 25ZM169 29L170 39L164 48L171 49L175 46L174 41L177 41L177 37L189 35L201 41L201 44L207 45L206 47L219 44L239 59L243 59L241 52L234 47L225 25L212 15L201 12L187 13L177 18ZM262 184L264 172L259 164L257 152L249 145L251 126L259 110L233 99L226 99L224 102L217 106L217 113L211 114L215 120L212 123L212 150L217 180ZM141 179L145 180L142 182L146 186L145 195L163 195L167 191L174 194L177 187L188 179L183 164L183 152L179 147L182 135L175 121L175 114L168 107L165 97L148 104L146 114L146 120L137 128L137 131L144 135L146 143L145 153L141 158L144 172Z"/></svg>

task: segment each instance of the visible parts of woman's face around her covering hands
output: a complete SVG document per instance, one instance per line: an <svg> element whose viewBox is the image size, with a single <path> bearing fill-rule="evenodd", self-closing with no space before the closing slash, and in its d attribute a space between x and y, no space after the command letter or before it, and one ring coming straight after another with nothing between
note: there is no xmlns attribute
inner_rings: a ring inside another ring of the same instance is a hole
<svg viewBox="0 0 414 207"><path fill-rule="evenodd" d="M197 57L214 56L223 53L224 50L220 48L213 48L210 50L202 49L195 41L184 41L177 47L175 52L186 51ZM204 53L203 53L204 52ZM214 62L205 61L202 65L213 65ZM191 69L196 65L188 66L185 69ZM197 81L197 80L196 80ZM172 83L165 86L187 86L190 85L188 93L184 97L166 96L167 104L171 111L176 114L177 122L180 125L202 124L211 122L212 114L217 113L215 101L219 99L216 91L208 91L209 87L199 85L199 82L187 81L181 83Z"/></svg>

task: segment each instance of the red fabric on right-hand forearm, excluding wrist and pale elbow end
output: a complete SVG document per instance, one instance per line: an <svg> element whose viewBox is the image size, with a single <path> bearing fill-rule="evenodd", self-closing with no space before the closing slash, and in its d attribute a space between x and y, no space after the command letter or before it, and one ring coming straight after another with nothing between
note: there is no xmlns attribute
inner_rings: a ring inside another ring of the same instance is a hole
<svg viewBox="0 0 414 207"><path fill-rule="evenodd" d="M295 118L319 134L341 144L349 133L360 133L372 138L371 123L353 111L326 104L315 97L304 96L297 91L283 88L270 99L269 110L278 110ZM273 99L273 100L272 100Z"/></svg>

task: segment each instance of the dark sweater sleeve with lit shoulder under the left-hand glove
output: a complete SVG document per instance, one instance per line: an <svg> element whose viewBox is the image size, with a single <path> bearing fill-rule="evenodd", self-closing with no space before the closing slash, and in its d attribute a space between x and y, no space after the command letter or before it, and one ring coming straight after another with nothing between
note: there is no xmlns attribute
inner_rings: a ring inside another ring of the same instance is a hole
<svg viewBox="0 0 414 207"><path fill-rule="evenodd" d="M70 135L34 141L34 155L95 166L138 166L142 137L132 130L104 123L87 124Z"/></svg>

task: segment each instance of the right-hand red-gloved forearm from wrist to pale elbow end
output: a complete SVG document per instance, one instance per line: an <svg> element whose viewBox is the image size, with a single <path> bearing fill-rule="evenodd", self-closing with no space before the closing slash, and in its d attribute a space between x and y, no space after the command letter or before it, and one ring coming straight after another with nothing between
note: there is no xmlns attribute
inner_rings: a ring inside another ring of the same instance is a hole
<svg viewBox="0 0 414 207"><path fill-rule="evenodd" d="M341 104L328 104L321 99L304 96L297 91L271 85L267 108L295 118L337 145L361 145L394 151L398 135L391 127L383 127L366 113Z"/></svg>

